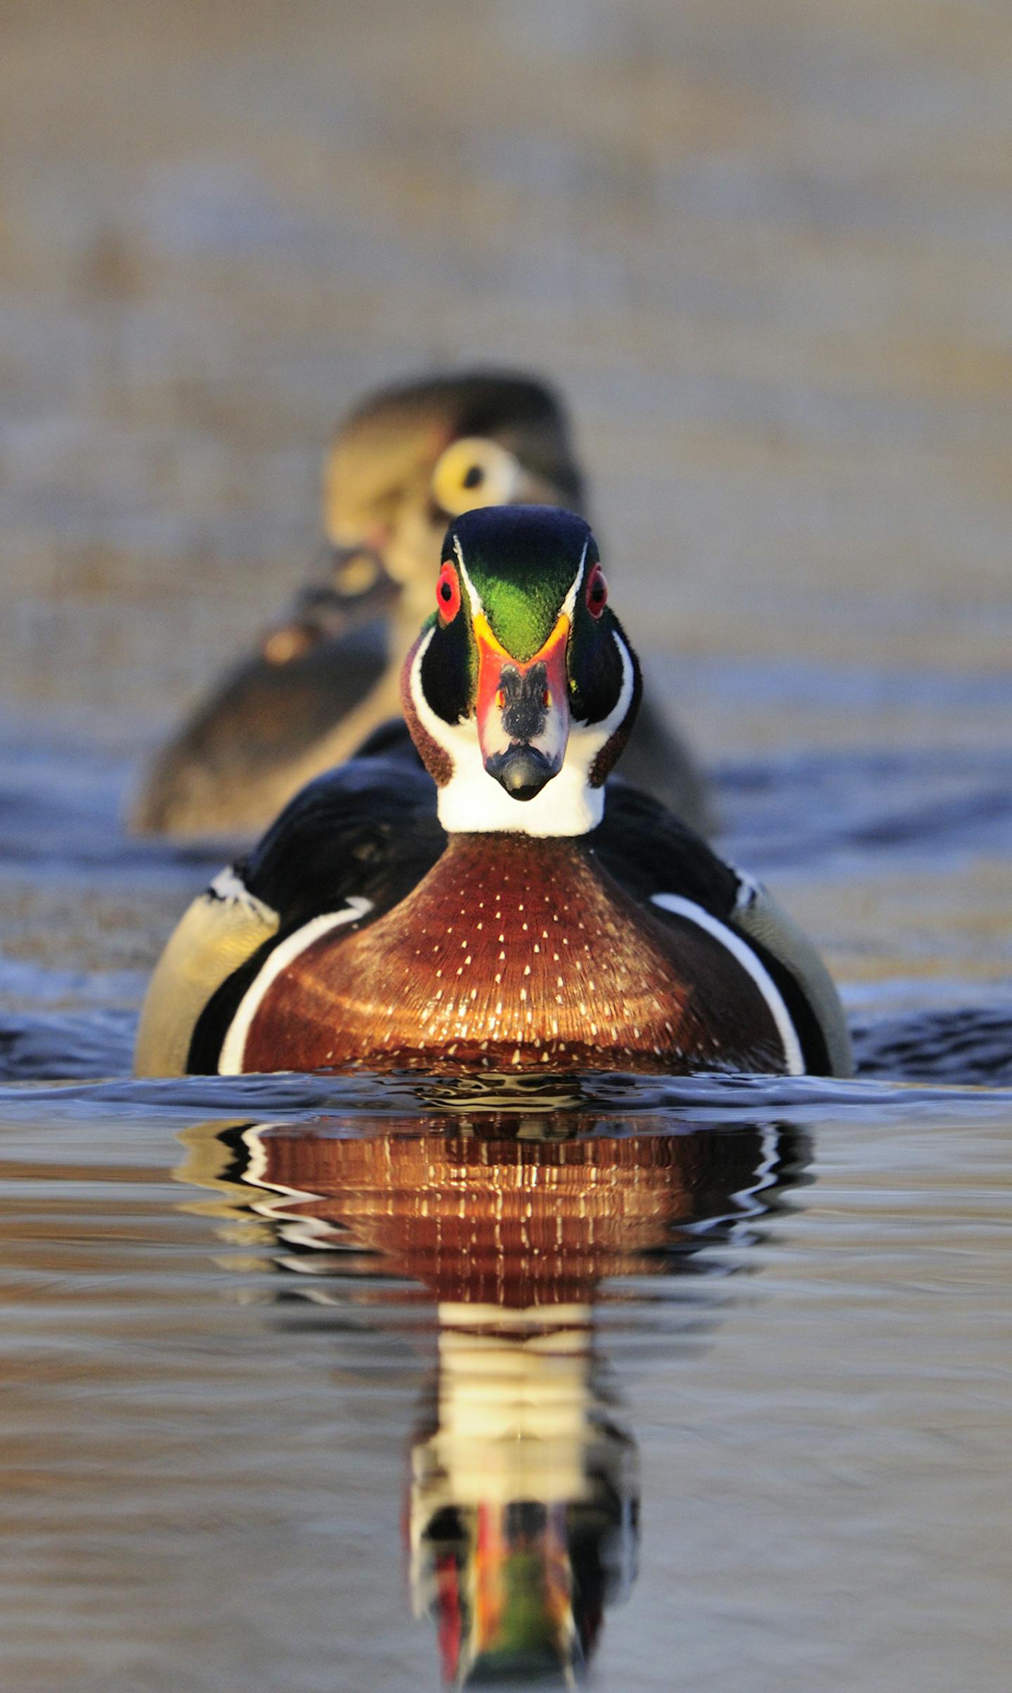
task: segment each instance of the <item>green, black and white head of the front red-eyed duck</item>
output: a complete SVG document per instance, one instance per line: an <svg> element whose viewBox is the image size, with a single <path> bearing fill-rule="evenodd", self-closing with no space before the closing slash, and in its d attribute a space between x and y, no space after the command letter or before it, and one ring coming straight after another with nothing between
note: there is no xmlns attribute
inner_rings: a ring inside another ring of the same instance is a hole
<svg viewBox="0 0 1012 1693"><path fill-rule="evenodd" d="M489 506L450 523L403 701L445 830L596 828L640 665L584 518Z"/></svg>

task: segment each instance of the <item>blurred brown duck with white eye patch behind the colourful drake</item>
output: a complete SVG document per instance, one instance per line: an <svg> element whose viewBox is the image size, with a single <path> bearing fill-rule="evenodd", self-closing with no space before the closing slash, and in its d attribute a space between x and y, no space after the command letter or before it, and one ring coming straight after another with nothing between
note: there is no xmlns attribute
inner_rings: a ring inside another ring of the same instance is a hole
<svg viewBox="0 0 1012 1693"><path fill-rule="evenodd" d="M450 518L514 501L584 506L565 411L538 381L469 372L384 389L338 428L323 474L323 581L156 757L130 814L140 835L256 835L322 770L399 713L399 674L432 604ZM694 828L704 782L660 711L635 777Z"/></svg>

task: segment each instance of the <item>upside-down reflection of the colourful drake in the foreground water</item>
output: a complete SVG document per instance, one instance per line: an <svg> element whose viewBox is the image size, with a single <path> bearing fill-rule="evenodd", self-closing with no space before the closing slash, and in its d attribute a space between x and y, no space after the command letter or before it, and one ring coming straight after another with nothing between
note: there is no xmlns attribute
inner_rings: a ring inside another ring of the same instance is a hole
<svg viewBox="0 0 1012 1693"><path fill-rule="evenodd" d="M604 1607L633 1585L640 1515L596 1305L621 1300L626 1277L736 1268L707 1248L756 1238L806 1138L575 1111L215 1124L184 1139L179 1177L218 1188L218 1212L261 1219L279 1268L315 1258L347 1287L364 1263L372 1280L362 1253L379 1255L437 1300L404 1514L415 1610L435 1620L450 1686L574 1686ZM301 1285L323 1293L316 1277ZM371 1321L384 1327L382 1305Z"/></svg>

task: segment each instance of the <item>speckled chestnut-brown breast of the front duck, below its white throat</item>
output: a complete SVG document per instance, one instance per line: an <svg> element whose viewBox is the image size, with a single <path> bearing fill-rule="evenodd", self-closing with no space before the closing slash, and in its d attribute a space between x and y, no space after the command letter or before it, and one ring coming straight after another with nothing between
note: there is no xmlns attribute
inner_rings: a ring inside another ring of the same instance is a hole
<svg viewBox="0 0 1012 1693"><path fill-rule="evenodd" d="M244 1070L782 1070L767 999L718 938L636 906L580 840L452 835L393 911L269 982Z"/></svg>

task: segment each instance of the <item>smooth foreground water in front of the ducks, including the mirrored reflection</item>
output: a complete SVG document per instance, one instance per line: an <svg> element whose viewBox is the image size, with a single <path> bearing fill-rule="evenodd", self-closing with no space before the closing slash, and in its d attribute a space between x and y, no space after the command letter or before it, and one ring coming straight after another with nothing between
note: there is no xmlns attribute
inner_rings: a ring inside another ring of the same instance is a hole
<svg viewBox="0 0 1012 1693"><path fill-rule="evenodd" d="M998 1693L1010 1122L5 1089L3 1685Z"/></svg>

